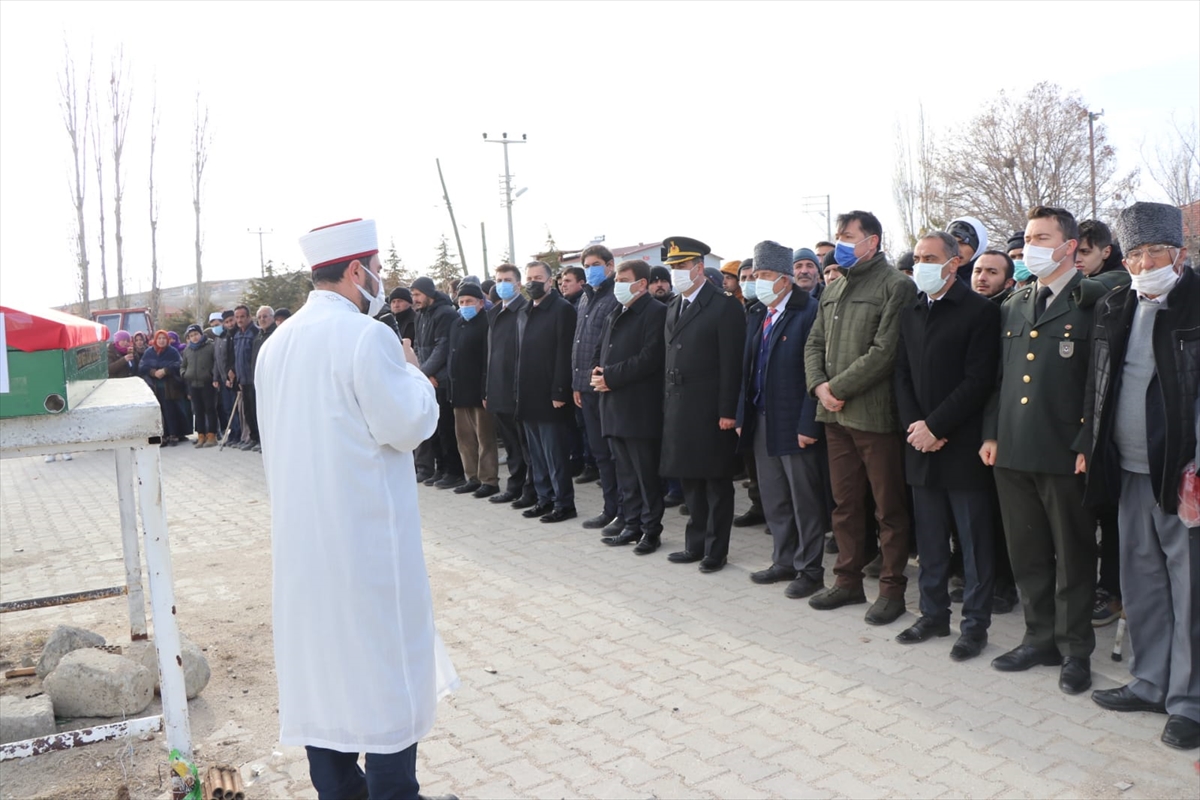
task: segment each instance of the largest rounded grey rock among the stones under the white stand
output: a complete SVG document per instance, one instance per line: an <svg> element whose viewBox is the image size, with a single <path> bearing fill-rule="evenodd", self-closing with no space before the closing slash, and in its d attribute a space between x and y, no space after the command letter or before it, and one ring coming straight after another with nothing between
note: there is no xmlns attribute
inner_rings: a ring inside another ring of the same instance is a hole
<svg viewBox="0 0 1200 800"><path fill-rule="evenodd" d="M154 675L125 656L76 650L62 656L42 687L61 717L140 714L154 699Z"/></svg>

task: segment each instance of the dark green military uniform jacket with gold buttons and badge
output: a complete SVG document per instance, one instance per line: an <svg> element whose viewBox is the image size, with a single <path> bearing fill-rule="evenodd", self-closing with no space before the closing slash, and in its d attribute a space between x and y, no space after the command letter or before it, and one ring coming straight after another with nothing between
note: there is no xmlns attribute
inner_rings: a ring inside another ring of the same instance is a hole
<svg viewBox="0 0 1200 800"><path fill-rule="evenodd" d="M1111 277L1117 275L1118 277ZM1076 272L1034 320L1038 284L1001 306L1000 379L984 413L983 438L996 440L996 465L1074 475L1084 447L1084 387L1091 359L1092 312L1112 285Z"/></svg>

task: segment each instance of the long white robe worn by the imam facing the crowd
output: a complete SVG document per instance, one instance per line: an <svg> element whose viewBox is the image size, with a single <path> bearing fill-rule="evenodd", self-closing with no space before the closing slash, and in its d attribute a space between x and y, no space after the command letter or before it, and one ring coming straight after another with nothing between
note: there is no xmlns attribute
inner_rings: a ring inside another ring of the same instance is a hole
<svg viewBox="0 0 1200 800"><path fill-rule="evenodd" d="M254 375L271 501L280 741L395 753L458 685L433 625L413 450L433 386L395 331L317 290Z"/></svg>

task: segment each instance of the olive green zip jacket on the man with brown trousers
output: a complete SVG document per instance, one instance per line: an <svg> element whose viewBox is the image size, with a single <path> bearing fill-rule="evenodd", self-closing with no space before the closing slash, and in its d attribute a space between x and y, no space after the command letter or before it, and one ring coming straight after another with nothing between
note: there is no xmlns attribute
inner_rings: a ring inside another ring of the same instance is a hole
<svg viewBox="0 0 1200 800"><path fill-rule="evenodd" d="M827 411L817 403L818 422L836 422L854 431L895 433L896 349L900 312L917 299L917 287L877 253L846 270L821 293L817 318L804 347L809 393L829 381L829 391L846 404Z"/></svg>

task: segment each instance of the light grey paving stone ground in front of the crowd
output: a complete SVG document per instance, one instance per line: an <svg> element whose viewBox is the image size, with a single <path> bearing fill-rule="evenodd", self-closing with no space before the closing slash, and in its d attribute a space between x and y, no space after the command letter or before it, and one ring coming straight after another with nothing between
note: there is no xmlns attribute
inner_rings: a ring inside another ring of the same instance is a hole
<svg viewBox="0 0 1200 800"><path fill-rule="evenodd" d="M212 464L224 477L218 495ZM503 467L502 467L503 470ZM163 452L180 615L236 597L198 575L208 551L269 541L257 453ZM112 457L0 463L0 599L120 583ZM770 559L762 527L734 529L730 565L701 575L666 554L636 557L580 521L544 525L469 495L421 487L439 630L462 678L419 747L430 793L462 798L1195 798L1195 751L1160 742L1164 717L1118 715L1067 697L1057 670L992 670L1020 640L997 615L979 658L949 660L953 637L893 637L865 606L815 612L749 573ZM742 511L748 500L738 491ZM578 491L580 517L599 488ZM101 533L106 531L107 533ZM31 535L32 534L32 535ZM64 552L66 551L66 552ZM832 569L827 557L827 570ZM868 596L876 584L868 581ZM916 567L907 602L917 608ZM95 606L97 603L92 603ZM83 608L83 607L77 607ZM256 608L269 626L269 607ZM53 609L20 614L54 624ZM76 612L72 624L86 624ZM1123 684L1098 632L1098 688ZM260 646L269 649L269 642ZM274 706L274 697L268 705ZM301 748L260 746L242 765L253 798L316 798ZM1132 784L1124 789L1126 784Z"/></svg>

